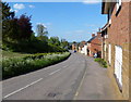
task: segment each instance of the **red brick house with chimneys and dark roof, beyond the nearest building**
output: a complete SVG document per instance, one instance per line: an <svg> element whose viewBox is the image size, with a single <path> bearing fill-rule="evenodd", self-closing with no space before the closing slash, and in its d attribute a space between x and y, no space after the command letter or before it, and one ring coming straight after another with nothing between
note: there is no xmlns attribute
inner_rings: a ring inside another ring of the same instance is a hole
<svg viewBox="0 0 131 102"><path fill-rule="evenodd" d="M87 55L94 56L94 53L97 53L97 56L102 56L102 36L100 31L92 34L92 38L87 41Z"/></svg>

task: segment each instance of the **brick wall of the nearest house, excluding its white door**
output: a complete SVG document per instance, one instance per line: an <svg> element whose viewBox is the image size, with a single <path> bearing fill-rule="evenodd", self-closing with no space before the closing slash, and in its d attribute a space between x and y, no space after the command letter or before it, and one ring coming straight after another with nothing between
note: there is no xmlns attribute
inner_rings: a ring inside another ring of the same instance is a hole
<svg viewBox="0 0 131 102"><path fill-rule="evenodd" d="M108 72L114 77L115 71L115 46L120 46L122 48L122 92L116 89L116 93L119 98L129 99L129 56L130 56L130 42L131 42L131 2L122 2L121 10L116 16L116 7L111 15L111 25L107 29L108 43L111 43L111 65L108 66ZM108 48L107 48L108 50ZM108 51L107 58L108 58ZM107 60L107 59L106 59ZM116 81L114 81L116 82Z"/></svg>

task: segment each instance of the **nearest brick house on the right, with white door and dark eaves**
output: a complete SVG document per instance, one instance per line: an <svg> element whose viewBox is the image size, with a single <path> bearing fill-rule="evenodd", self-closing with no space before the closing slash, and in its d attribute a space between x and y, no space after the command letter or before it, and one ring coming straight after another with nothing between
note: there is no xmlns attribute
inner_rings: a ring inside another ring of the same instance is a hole
<svg viewBox="0 0 131 102"><path fill-rule="evenodd" d="M131 68L131 1L103 0L102 14L107 24L102 28L102 58L108 62L108 74L120 99L129 99L129 71Z"/></svg>

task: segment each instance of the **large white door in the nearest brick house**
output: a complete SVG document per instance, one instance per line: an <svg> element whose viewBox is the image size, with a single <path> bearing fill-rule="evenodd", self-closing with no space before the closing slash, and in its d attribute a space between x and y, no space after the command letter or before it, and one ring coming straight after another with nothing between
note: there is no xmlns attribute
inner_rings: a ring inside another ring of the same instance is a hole
<svg viewBox="0 0 131 102"><path fill-rule="evenodd" d="M115 74L122 87L122 48L119 46L115 47Z"/></svg>

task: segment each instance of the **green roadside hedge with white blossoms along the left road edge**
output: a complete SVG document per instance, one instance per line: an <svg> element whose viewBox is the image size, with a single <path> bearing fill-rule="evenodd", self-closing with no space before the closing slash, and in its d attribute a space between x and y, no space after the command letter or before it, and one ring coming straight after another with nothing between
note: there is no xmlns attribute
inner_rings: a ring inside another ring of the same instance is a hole
<svg viewBox="0 0 131 102"><path fill-rule="evenodd" d="M23 58L2 60L2 78L26 74L68 59L70 52L37 53Z"/></svg>

